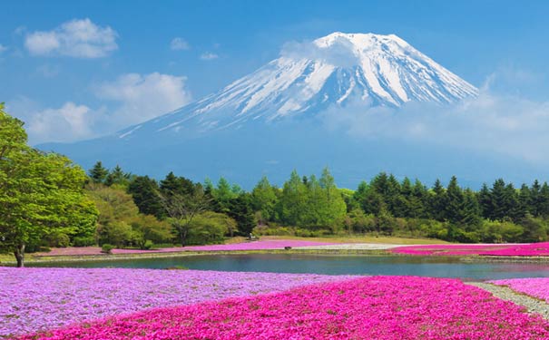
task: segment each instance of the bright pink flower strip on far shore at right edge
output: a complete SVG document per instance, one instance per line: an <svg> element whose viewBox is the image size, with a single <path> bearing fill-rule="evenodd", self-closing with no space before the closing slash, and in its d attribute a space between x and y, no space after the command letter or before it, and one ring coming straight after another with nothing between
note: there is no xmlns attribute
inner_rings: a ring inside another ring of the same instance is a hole
<svg viewBox="0 0 549 340"><path fill-rule="evenodd" d="M506 245L426 245L398 247L390 250L406 255L480 255L500 257L546 257L549 256L549 242Z"/></svg>

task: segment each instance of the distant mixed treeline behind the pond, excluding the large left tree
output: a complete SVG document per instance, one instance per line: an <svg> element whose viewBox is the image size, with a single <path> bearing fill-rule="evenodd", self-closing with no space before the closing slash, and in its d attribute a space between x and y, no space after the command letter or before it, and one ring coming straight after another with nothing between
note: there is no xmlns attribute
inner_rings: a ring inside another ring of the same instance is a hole
<svg viewBox="0 0 549 340"><path fill-rule="evenodd" d="M216 184L211 180L195 183L170 172L157 181L125 173L118 166L106 170L101 162L89 175L93 183L90 192L100 210L96 237L100 244L132 244L132 228L127 228L126 239L113 239L111 234L121 233L116 228L109 232L114 219L102 218L102 203L96 194L99 188L127 195L138 209L136 214L154 217L165 230L174 232L159 233L163 238L149 237L155 243L216 243L226 236L250 233L534 242L546 240L549 230L549 185L537 180L516 189L500 179L475 191L460 187L456 177L446 187L436 180L428 188L419 180L397 180L382 172L351 190L338 189L328 169L319 178L301 177L294 170L281 188L263 177L255 188L246 191L224 178ZM142 238L142 242L146 240Z"/></svg>

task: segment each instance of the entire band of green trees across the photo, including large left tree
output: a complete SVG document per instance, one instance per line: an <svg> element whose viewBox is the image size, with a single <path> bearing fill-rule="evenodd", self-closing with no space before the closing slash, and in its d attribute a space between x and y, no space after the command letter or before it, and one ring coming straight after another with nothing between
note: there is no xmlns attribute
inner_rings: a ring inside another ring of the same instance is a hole
<svg viewBox="0 0 549 340"><path fill-rule="evenodd" d="M159 248L222 243L233 236L333 235L536 242L549 232L549 185L503 179L474 190L456 177L427 187L380 172L342 189L328 168L289 174L281 187L261 178L250 191L221 177L162 180L101 161L84 171L27 144L23 121L0 104L0 251L18 264L48 247Z"/></svg>

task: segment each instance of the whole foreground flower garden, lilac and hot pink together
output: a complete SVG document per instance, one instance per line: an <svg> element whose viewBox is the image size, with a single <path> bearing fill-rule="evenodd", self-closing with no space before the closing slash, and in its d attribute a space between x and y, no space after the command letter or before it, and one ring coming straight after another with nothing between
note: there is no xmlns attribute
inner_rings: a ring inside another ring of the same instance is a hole
<svg viewBox="0 0 549 340"><path fill-rule="evenodd" d="M0 338L549 338L540 316L458 279L0 267L0 282Z"/></svg>

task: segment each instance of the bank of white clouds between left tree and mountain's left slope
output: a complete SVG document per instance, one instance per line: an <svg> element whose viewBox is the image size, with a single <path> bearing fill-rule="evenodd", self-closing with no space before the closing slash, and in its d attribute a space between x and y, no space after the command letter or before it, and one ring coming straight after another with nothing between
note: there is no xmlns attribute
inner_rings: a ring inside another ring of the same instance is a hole
<svg viewBox="0 0 549 340"><path fill-rule="evenodd" d="M7 112L25 121L33 145L85 140L180 108L191 101L185 80L162 73L127 73L113 82L94 86L94 94L106 102L99 108L65 102L61 107L44 109L36 102L19 98L8 102Z"/></svg>

